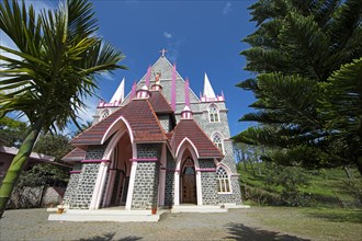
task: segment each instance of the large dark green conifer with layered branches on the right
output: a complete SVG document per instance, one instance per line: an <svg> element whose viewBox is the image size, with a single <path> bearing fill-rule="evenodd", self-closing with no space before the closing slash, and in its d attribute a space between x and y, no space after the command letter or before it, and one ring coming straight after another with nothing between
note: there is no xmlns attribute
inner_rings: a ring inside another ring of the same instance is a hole
<svg viewBox="0 0 362 241"><path fill-rule="evenodd" d="M362 174L362 1L260 0L244 41L257 127L236 142L273 148L263 160L308 169L353 164Z"/></svg>

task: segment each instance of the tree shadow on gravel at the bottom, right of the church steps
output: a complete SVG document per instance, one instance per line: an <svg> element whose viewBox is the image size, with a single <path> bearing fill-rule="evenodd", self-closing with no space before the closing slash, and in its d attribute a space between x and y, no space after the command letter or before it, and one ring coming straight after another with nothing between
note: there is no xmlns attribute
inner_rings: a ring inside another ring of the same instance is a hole
<svg viewBox="0 0 362 241"><path fill-rule="evenodd" d="M283 234L280 232L273 232L268 230L262 230L259 228L246 227L241 223L230 222L226 226L229 230L228 237L225 239L233 240L247 240L247 241L260 241L260 240L290 240L290 241L306 241L308 239L302 239L295 236Z"/></svg>

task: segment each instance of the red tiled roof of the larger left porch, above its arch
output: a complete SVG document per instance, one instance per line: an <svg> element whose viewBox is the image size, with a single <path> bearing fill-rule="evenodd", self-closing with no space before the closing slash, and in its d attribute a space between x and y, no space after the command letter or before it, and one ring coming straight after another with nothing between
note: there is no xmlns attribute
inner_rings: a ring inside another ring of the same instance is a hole
<svg viewBox="0 0 362 241"><path fill-rule="evenodd" d="M120 116L123 116L131 125L134 141L165 141L163 129L160 126L155 112L147 99L132 100L127 105L117 110L97 125L92 126L71 140L75 146L101 145L108 128Z"/></svg>

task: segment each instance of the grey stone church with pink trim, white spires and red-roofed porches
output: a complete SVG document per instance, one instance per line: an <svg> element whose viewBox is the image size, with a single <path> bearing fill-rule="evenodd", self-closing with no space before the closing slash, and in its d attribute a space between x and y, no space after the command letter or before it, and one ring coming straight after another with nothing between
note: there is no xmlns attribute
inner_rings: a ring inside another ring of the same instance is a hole
<svg viewBox="0 0 362 241"><path fill-rule="evenodd" d="M224 94L205 73L197 96L165 53L127 95L123 80L71 140L69 209L241 204Z"/></svg>

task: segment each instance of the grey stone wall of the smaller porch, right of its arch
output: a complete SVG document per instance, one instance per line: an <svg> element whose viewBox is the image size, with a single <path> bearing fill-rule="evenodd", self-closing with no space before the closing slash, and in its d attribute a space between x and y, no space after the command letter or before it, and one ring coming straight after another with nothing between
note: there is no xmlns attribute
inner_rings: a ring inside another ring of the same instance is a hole
<svg viewBox="0 0 362 241"><path fill-rule="evenodd" d="M200 159L199 164L201 169L215 169L214 160ZM202 203L203 205L216 205L216 175L215 172L201 172L201 186L202 186Z"/></svg>

